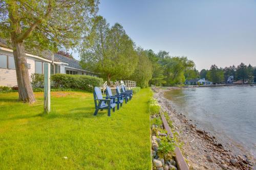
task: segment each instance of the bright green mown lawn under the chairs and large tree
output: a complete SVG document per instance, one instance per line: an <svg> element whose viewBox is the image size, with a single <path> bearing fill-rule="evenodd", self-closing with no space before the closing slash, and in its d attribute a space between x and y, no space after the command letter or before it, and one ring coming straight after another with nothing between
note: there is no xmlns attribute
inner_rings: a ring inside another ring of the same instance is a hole
<svg viewBox="0 0 256 170"><path fill-rule="evenodd" d="M35 95L29 105L16 92L0 94L0 169L151 168L149 88L111 117L93 116L92 93L51 92L48 115L43 93Z"/></svg>

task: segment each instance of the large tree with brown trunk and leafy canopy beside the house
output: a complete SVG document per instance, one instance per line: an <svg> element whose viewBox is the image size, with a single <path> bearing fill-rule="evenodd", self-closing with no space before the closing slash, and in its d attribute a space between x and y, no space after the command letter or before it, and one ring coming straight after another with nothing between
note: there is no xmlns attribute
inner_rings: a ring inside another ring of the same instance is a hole
<svg viewBox="0 0 256 170"><path fill-rule="evenodd" d="M0 1L0 36L13 47L19 100L35 102L25 49L71 48L87 35L97 0Z"/></svg>

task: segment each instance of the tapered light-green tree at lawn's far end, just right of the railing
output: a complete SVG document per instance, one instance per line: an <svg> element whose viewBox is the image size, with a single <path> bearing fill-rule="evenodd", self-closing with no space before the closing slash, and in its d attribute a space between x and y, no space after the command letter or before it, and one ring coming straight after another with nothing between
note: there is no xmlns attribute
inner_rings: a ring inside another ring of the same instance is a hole
<svg viewBox="0 0 256 170"><path fill-rule="evenodd" d="M147 57L147 52L142 48L137 48L139 57L138 65L131 76L131 80L136 81L137 86L141 88L148 87L148 81L151 80L153 74L153 67L150 59Z"/></svg>

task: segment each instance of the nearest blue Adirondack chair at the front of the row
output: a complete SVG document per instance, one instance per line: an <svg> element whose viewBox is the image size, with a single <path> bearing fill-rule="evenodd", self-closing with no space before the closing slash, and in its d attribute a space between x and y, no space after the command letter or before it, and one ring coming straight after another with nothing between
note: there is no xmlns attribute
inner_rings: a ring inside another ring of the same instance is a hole
<svg viewBox="0 0 256 170"><path fill-rule="evenodd" d="M110 116L111 109L115 112L116 107L116 98L113 97L104 97L101 94L101 90L99 87L94 87L94 103L95 103L95 112L94 115L97 115L98 111L102 111L103 109L108 109L108 116Z"/></svg>

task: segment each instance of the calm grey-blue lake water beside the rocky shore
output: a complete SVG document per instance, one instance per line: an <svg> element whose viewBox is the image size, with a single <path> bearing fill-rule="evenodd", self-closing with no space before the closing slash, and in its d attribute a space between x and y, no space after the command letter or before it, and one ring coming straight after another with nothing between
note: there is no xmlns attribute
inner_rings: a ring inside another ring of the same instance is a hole
<svg viewBox="0 0 256 170"><path fill-rule="evenodd" d="M256 86L169 90L178 112L211 132L236 154L256 157Z"/></svg>

